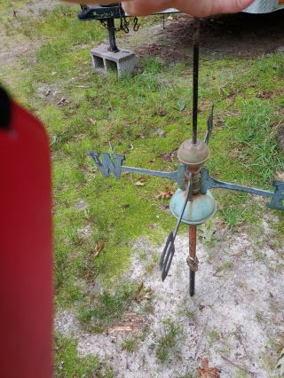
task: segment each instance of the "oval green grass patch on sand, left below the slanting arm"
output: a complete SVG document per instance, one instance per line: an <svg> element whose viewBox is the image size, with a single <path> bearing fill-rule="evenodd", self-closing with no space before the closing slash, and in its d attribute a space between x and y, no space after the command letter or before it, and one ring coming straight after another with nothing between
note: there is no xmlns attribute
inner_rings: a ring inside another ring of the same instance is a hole
<svg viewBox="0 0 284 378"><path fill-rule="evenodd" d="M134 284L124 282L113 293L104 291L97 298L92 298L91 304L80 306L78 319L84 329L99 333L111 327L114 320L122 318L133 299L135 290Z"/></svg>

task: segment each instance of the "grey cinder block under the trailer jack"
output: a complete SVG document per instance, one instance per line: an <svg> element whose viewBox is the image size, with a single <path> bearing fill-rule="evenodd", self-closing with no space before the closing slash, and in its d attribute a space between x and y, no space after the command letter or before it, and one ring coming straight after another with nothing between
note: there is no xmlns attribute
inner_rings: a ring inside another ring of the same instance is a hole
<svg viewBox="0 0 284 378"><path fill-rule="evenodd" d="M108 51L108 46L105 44L91 50L91 59L96 71L102 73L116 71L120 77L132 74L136 63L134 52L129 50Z"/></svg>

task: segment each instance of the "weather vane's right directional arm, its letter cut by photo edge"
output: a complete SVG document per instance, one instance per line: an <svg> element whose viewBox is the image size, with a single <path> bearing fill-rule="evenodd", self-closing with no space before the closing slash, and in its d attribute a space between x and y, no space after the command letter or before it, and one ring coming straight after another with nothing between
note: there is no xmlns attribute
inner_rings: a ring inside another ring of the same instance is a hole
<svg viewBox="0 0 284 378"><path fill-rule="evenodd" d="M267 204L267 207L284 211L284 182L274 181L273 185L275 186L275 190L274 192L270 192L263 189L225 183L210 177L208 169L201 169L201 193L205 194L209 189L220 188L270 197L272 201Z"/></svg>

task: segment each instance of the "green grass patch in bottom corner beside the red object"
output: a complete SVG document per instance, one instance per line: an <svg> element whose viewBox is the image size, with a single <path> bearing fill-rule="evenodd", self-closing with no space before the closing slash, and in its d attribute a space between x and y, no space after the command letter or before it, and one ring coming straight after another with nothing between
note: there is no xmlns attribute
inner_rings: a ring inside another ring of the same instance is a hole
<svg viewBox="0 0 284 378"><path fill-rule="evenodd" d="M113 378L110 366L99 362L98 357L79 358L77 343L61 335L55 335L55 377L56 378Z"/></svg>

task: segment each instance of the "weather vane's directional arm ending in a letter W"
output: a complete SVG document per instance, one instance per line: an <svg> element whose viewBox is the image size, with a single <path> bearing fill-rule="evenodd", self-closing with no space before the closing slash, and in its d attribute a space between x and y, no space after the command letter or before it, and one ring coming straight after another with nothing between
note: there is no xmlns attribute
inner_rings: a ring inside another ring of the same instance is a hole
<svg viewBox="0 0 284 378"><path fill-rule="evenodd" d="M123 155L114 154L113 161L109 154L102 154L101 159L100 154L96 151L89 151L87 154L91 156L91 158L95 162L95 165L99 168L101 174L104 177L109 177L112 173L115 178L121 178L123 171L138 173L140 175L168 178L172 181L175 181L181 188L185 186L185 166L182 164L179 165L177 170L171 172L162 172L160 170L122 166L122 162L125 159Z"/></svg>

